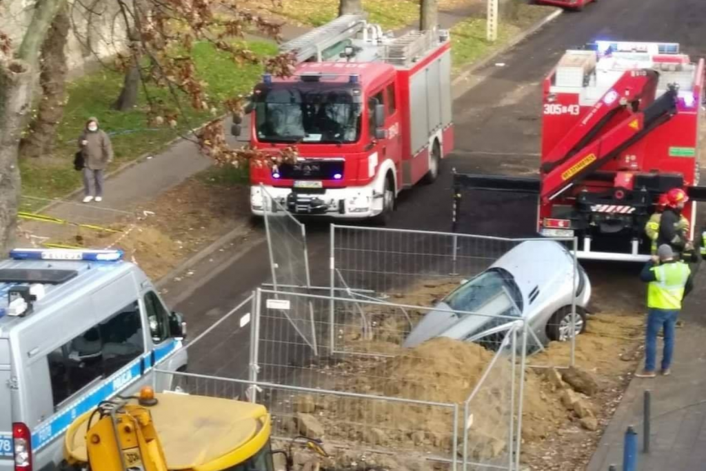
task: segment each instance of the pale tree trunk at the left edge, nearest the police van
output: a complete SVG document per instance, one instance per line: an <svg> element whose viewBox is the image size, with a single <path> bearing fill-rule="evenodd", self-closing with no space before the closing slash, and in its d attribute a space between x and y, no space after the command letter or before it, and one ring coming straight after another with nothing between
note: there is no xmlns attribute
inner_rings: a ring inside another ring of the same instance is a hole
<svg viewBox="0 0 706 471"><path fill-rule="evenodd" d="M0 252L6 253L15 237L20 198L20 171L17 157L20 133L30 111L33 85L39 71L40 47L49 25L64 0L37 2L25 30L18 59L0 56Z"/></svg>

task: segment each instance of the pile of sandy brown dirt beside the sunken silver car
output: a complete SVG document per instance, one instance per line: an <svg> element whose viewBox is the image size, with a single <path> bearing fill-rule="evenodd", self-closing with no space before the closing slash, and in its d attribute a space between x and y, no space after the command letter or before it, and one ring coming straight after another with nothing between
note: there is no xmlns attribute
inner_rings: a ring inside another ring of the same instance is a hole
<svg viewBox="0 0 706 471"><path fill-rule="evenodd" d="M369 315L371 318L383 316L379 312ZM394 321L387 322L404 323L400 318L396 316ZM532 445L540 449L544 440L567 427L587 433L599 428L604 414L603 391L614 390L623 376L635 367L642 322L643 316L639 314L591 316L587 331L575 343L574 368L527 367L522 440L530 450ZM384 318L371 322L371 326L368 339L351 338L347 345L357 352L388 357L347 357L335 366L334 374L340 376L336 388L367 395L457 404L462 421L463 404L479 384L496 352L449 338L434 338L413 349L402 349L399 341L390 338L390 334L385 333L388 330L381 328L385 326ZM510 355L498 357L469 403L472 415L469 451L476 459L491 459L507 451L513 374L510 360ZM527 362L566 366L569 361L570 344L551 342L544 352L533 355ZM515 374L519 375L519 371L516 365ZM517 384L515 393L519 393ZM357 398L328 398L316 403L316 420L328 439L397 449L413 447L430 453L452 451L453 412L449 408ZM462 434L462 424L460 427Z"/></svg>

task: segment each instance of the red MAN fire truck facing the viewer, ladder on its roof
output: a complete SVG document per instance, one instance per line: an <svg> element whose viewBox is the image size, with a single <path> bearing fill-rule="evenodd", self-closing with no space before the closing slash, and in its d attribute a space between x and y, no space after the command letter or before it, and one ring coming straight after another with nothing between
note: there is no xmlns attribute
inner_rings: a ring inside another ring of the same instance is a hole
<svg viewBox="0 0 706 471"><path fill-rule="evenodd" d="M297 215L386 222L397 193L436 179L453 149L448 32L394 38L345 15L281 50L299 65L254 89L250 142L299 158L251 166L253 214L273 198Z"/></svg>

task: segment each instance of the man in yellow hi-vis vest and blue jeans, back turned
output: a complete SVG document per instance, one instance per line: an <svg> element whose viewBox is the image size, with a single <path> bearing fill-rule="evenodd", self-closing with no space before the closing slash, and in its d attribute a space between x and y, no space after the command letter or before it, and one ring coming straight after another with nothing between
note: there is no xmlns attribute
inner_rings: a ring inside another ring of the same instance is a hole
<svg viewBox="0 0 706 471"><path fill-rule="evenodd" d="M664 329L664 352L662 374L669 375L671 356L674 353L674 328L681 311L681 301L693 288L691 270L686 263L678 261L668 244L657 249L657 256L647 262L640 273L647 285L647 332L645 335L645 369L638 378L657 376L657 334Z"/></svg>

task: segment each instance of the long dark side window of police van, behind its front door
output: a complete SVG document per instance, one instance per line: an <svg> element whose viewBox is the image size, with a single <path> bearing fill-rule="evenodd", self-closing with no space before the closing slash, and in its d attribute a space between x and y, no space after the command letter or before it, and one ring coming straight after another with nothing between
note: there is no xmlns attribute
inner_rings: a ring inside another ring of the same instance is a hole
<svg viewBox="0 0 706 471"><path fill-rule="evenodd" d="M54 407L145 352L137 301L47 355Z"/></svg>

